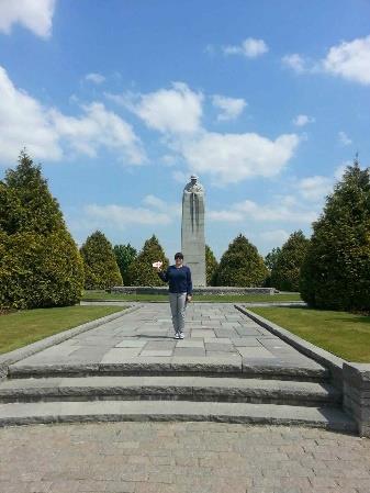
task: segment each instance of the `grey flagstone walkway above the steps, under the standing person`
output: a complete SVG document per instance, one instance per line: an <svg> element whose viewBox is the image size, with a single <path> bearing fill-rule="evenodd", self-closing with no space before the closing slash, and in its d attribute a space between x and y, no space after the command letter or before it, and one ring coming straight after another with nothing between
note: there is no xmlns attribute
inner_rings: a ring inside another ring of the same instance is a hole
<svg viewBox="0 0 370 493"><path fill-rule="evenodd" d="M193 303L186 339L173 339L169 305L147 303L115 321L31 356L19 366L130 362L225 362L318 369L233 304Z"/></svg>

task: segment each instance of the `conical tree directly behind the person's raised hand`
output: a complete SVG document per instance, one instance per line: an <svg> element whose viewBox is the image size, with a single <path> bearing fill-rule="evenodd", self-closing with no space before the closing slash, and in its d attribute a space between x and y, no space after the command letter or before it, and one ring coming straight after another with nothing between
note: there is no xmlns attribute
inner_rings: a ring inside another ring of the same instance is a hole
<svg viewBox="0 0 370 493"><path fill-rule="evenodd" d="M128 267L128 277L132 285L164 285L153 264L157 260L164 262L162 270L168 268L168 259L158 238L153 235L144 243L143 249Z"/></svg>

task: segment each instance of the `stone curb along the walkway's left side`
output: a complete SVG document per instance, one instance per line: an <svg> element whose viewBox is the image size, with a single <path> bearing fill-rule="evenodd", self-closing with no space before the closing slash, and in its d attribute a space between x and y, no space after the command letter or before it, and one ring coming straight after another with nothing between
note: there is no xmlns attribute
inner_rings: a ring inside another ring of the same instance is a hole
<svg viewBox="0 0 370 493"><path fill-rule="evenodd" d="M83 332L91 330L92 328L97 328L100 325L105 324L106 322L114 321L115 318L120 318L123 315L135 312L139 310L141 305L132 306L127 310L122 310L117 313L112 313L111 315L103 316L96 321L87 322L86 324L79 325L77 327L70 328L59 334L55 334L53 336L46 337L44 339L37 340L35 343L29 344L20 349L15 349L10 352L5 352L0 356L0 381L8 376L8 369L10 365L13 365L22 359L27 358L29 356L35 355L36 352L43 351L52 346L64 343L71 337L75 337Z"/></svg>

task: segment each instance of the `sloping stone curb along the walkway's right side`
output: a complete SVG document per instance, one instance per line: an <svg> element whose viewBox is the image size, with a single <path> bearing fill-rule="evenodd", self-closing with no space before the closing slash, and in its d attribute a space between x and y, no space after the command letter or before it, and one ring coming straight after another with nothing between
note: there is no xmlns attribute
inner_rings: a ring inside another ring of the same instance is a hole
<svg viewBox="0 0 370 493"><path fill-rule="evenodd" d="M236 310L247 315L254 322L257 322L257 324L261 325L267 330L280 337L282 340L298 349L303 355L309 356L309 358L312 358L313 360L328 368L332 373L333 384L337 389L343 390L343 366L348 361L338 358L335 355L332 355L332 352L328 352L325 349L315 346L314 344L307 343L306 340L292 334L285 328L280 327L279 325L268 321L267 318L264 318L260 315L257 315L256 313L245 309L244 306L237 304L235 304L234 306L236 307Z"/></svg>

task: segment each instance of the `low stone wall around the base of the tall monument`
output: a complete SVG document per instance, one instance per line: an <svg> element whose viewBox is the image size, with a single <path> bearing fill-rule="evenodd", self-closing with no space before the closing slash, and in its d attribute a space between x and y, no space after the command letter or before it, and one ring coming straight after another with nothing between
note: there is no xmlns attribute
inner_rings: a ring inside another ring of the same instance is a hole
<svg viewBox="0 0 370 493"><path fill-rule="evenodd" d="M166 294L168 292L167 285L115 285L108 290L110 293L122 294ZM243 294L273 294L274 288L233 288L222 285L209 285L204 288L193 288L193 294L217 294L217 295L243 295Z"/></svg>

